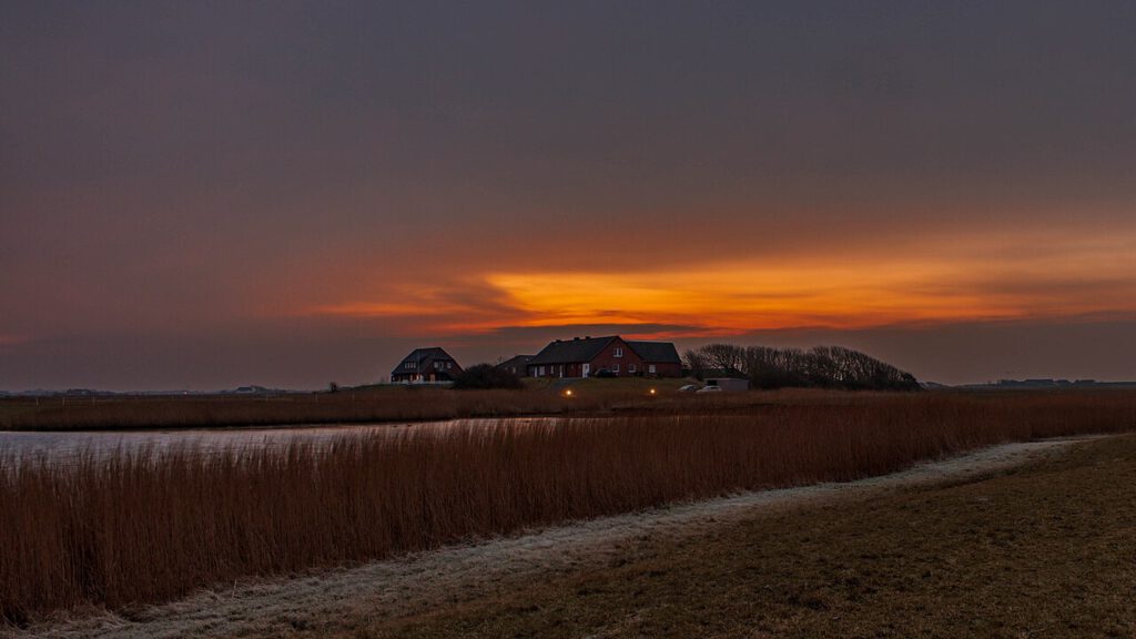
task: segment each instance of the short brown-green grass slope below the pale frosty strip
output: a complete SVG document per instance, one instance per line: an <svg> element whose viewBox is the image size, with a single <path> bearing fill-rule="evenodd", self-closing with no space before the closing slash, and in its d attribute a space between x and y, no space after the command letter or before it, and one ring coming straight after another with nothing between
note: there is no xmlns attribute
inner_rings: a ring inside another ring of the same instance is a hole
<svg viewBox="0 0 1136 639"><path fill-rule="evenodd" d="M335 639L1134 637L1136 437L961 486L644 539L603 570Z"/></svg>

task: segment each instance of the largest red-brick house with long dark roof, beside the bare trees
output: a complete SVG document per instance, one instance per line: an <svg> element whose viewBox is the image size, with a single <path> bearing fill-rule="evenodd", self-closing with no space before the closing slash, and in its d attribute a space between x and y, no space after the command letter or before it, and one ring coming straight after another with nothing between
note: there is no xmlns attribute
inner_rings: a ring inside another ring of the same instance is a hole
<svg viewBox="0 0 1136 639"><path fill-rule="evenodd" d="M683 363L670 342L626 341L610 335L556 340L526 367L533 377L678 377Z"/></svg>

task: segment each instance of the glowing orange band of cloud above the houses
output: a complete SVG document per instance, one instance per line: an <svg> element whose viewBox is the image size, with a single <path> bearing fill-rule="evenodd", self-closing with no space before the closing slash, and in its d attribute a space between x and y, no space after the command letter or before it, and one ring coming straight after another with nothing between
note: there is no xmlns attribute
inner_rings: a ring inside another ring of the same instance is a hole
<svg viewBox="0 0 1136 639"><path fill-rule="evenodd" d="M1136 315L1136 233L1018 233L851 257L794 256L620 272L491 272L460 287L407 288L394 301L346 302L317 315L376 317L418 332L504 327L678 326L650 337L790 327Z"/></svg>

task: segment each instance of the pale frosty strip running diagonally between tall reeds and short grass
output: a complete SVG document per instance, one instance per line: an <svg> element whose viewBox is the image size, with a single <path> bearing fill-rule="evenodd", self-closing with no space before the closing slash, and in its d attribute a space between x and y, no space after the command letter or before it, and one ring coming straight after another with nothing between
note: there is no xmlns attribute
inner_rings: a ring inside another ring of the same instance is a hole
<svg viewBox="0 0 1136 639"><path fill-rule="evenodd" d="M608 565L649 536L682 536L762 508L974 480L1055 454L1075 441L1080 440L1009 443L855 482L747 492L311 576L241 582L130 615L92 612L18 632L0 630L0 637L278 637L296 629L334 629L344 619L415 614L517 588L550 573Z"/></svg>

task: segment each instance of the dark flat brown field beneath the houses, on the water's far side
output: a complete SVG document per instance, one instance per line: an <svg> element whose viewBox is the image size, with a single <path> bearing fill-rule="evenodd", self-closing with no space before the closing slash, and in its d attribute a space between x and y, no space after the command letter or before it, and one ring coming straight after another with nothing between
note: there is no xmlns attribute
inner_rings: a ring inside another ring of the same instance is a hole
<svg viewBox="0 0 1136 639"><path fill-rule="evenodd" d="M524 390L376 387L336 393L0 399L0 430L144 430L373 424L473 417L605 416L625 414L754 415L779 407L874 406L903 393L787 389L740 393L678 392L686 380L532 380ZM566 390L571 389L570 397ZM650 391L654 389L655 392ZM1136 391L928 391L957 405L1091 404L1127 401ZM1066 396L1075 399L1062 399ZM922 400L916 400L922 401ZM935 401L935 400L932 400Z"/></svg>

